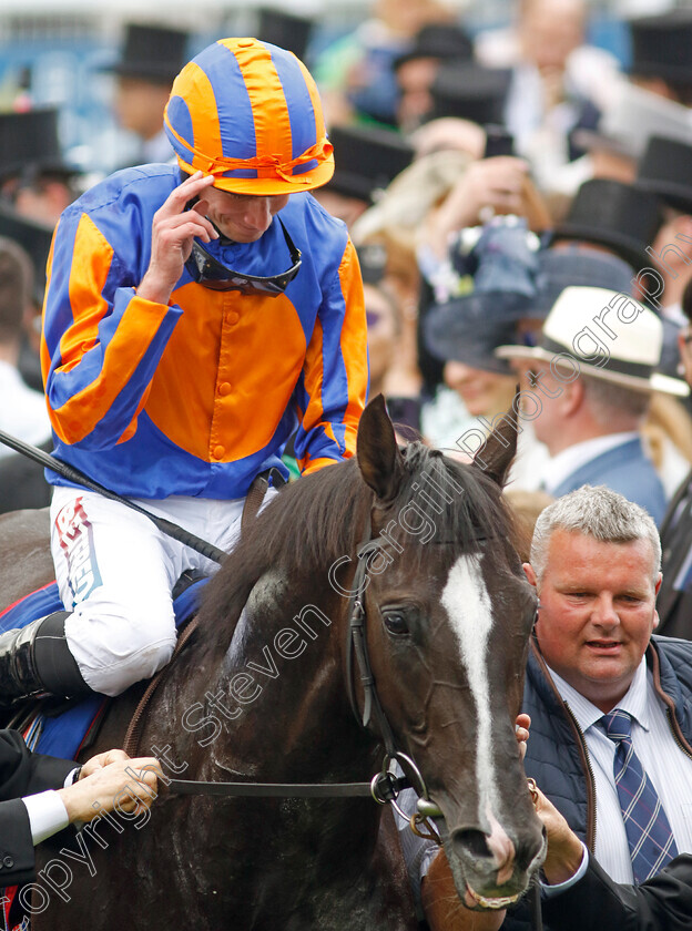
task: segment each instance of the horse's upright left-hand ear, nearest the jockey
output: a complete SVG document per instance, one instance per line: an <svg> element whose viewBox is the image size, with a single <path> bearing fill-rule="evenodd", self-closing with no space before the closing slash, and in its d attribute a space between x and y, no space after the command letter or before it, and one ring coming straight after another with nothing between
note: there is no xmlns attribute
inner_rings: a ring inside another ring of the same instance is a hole
<svg viewBox="0 0 692 931"><path fill-rule="evenodd" d="M404 463L381 395L373 398L363 411L356 457L360 474L377 499L393 501L401 484Z"/></svg>

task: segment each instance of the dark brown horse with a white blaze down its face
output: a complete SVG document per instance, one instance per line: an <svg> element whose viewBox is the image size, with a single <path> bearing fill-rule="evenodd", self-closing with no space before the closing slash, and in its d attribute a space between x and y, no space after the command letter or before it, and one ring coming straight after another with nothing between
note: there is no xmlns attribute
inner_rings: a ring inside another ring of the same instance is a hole
<svg viewBox="0 0 692 931"><path fill-rule="evenodd" d="M275 495L210 581L138 754L170 778L247 784L369 780L396 759L459 896L522 894L545 840L513 727L536 614L501 500L515 446L503 422L470 464L399 449L370 401L356 457ZM16 539L14 564L35 550ZM122 744L141 690L111 705L95 750ZM166 781L146 816L39 848L37 931L418 927L390 809Z"/></svg>

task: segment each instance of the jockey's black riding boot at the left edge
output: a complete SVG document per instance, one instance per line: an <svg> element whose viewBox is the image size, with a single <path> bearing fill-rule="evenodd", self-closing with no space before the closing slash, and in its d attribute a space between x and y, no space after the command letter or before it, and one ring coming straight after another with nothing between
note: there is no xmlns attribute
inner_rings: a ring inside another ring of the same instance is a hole
<svg viewBox="0 0 692 931"><path fill-rule="evenodd" d="M30 695L86 695L64 634L67 611L57 611L26 627L0 634L0 705Z"/></svg>

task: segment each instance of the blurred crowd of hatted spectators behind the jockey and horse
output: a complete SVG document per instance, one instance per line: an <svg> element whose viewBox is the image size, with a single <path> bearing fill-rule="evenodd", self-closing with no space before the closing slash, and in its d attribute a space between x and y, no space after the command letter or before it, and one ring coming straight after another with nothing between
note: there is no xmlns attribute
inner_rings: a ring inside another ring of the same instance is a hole
<svg viewBox="0 0 692 931"><path fill-rule="evenodd" d="M374 0L339 30L328 11L262 9L255 25L319 85L336 170L313 196L356 246L370 397L401 441L468 460L509 420L527 539L584 484L642 505L663 543L659 632L692 640L692 9L506 7L493 24L477 4ZM74 112L43 105L40 64L6 69L0 431L51 449L52 232L106 172L172 161L163 109L208 39L125 23L93 72L116 131L75 133ZM48 502L42 469L0 444L0 512Z"/></svg>

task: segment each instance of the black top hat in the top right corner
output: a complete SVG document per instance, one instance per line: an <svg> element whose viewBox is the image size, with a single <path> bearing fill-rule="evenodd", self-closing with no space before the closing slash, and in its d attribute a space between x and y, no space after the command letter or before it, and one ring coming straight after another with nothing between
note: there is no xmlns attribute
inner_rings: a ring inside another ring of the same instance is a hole
<svg viewBox="0 0 692 931"><path fill-rule="evenodd" d="M630 73L692 82L692 10L630 20Z"/></svg>

